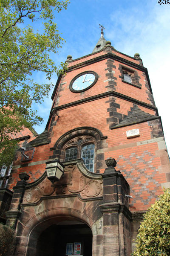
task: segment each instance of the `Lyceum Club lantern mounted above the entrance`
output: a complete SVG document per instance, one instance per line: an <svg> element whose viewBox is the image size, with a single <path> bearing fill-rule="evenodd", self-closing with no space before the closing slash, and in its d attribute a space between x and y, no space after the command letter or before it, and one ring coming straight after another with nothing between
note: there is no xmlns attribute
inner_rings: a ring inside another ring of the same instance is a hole
<svg viewBox="0 0 170 256"><path fill-rule="evenodd" d="M52 160L46 162L46 172L48 180L51 180L52 183L59 180L64 174L65 166L59 160Z"/></svg>

